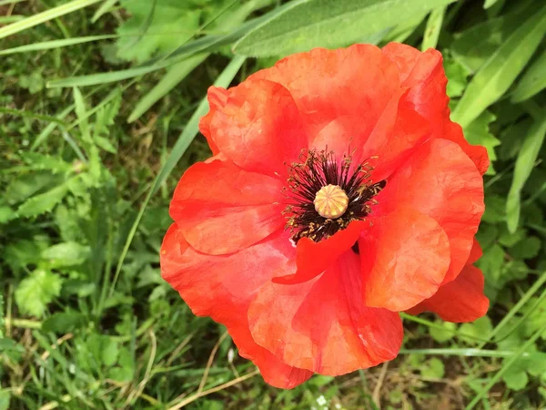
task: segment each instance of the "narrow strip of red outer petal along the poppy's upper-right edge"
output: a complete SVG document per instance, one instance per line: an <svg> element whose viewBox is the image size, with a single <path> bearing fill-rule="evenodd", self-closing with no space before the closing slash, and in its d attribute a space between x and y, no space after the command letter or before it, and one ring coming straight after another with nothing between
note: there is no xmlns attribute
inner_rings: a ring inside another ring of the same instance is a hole
<svg viewBox="0 0 546 410"><path fill-rule="evenodd" d="M450 139L460 145L483 175L489 167L487 150L468 143L458 124L450 120L448 79L442 56L432 48L425 52L399 43L389 43L382 52L398 67L399 81L409 87L408 99L421 116L430 121L432 138Z"/></svg>

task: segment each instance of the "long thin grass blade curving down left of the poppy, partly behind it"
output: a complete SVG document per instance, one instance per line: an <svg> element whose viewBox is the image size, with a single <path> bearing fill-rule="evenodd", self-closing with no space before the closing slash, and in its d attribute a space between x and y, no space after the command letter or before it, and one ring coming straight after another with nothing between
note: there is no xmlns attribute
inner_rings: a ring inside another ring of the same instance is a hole
<svg viewBox="0 0 546 410"><path fill-rule="evenodd" d="M245 57L241 56L235 56L231 62L227 65L227 67L222 71L222 74L220 74L219 77L217 77L216 82L214 85L216 87L227 87L233 80L233 78L238 73L239 68L243 65L245 62ZM186 128L184 128L184 131L182 131L182 134L177 139L177 143L173 147L170 155L167 158L167 161L157 174L156 179L154 180L152 187L150 190L148 190L147 197L142 203L142 206L140 207L140 210L138 211L138 214L136 215L135 222L133 223L133 226L131 227L131 230L129 231L129 234L127 235L126 243L124 245L123 251L121 252L121 255L119 257L119 261L117 262L116 267L116 274L114 275L114 280L112 281L112 285L110 287L110 296L114 293L114 290L116 289L116 282L119 278L119 273L121 272L121 267L123 266L123 262L126 259L127 251L129 251L129 246L131 246L131 242L133 241L133 238L136 234L136 229L138 228L138 224L140 223L140 220L142 219L142 216L144 215L144 211L146 210L147 204L149 200L152 198L152 195L154 195L161 184L165 182L169 174L175 167L177 166L178 160L184 155L184 152L186 152L187 147L193 140L193 138L196 137L198 132L198 125L199 125L199 118L204 116L207 113L208 109L208 102L207 98L203 98L199 106L197 107L196 111L194 112L193 116L189 118L189 121L187 122Z"/></svg>

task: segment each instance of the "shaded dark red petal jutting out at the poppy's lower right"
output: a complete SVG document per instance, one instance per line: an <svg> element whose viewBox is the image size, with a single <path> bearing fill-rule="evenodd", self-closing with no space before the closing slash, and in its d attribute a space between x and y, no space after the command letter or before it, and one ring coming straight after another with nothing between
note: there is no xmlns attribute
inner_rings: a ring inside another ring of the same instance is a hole
<svg viewBox="0 0 546 410"><path fill-rule="evenodd" d="M430 299L420 302L408 313L430 311L444 321L462 323L479 319L489 308L489 299L483 294L483 274L472 265L464 267L452 282L440 286Z"/></svg>

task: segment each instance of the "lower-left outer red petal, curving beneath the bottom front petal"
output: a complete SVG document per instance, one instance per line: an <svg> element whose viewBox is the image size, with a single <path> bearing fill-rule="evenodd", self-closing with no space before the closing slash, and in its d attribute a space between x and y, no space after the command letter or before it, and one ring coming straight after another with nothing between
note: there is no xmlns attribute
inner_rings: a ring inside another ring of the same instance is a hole
<svg viewBox="0 0 546 410"><path fill-rule="evenodd" d="M284 364L254 342L248 329L248 304L274 272L291 269L294 250L286 233L276 234L231 255L211 256L194 250L174 223L161 246L161 274L193 313L227 326L239 353L258 365L264 379L292 388L312 373Z"/></svg>

